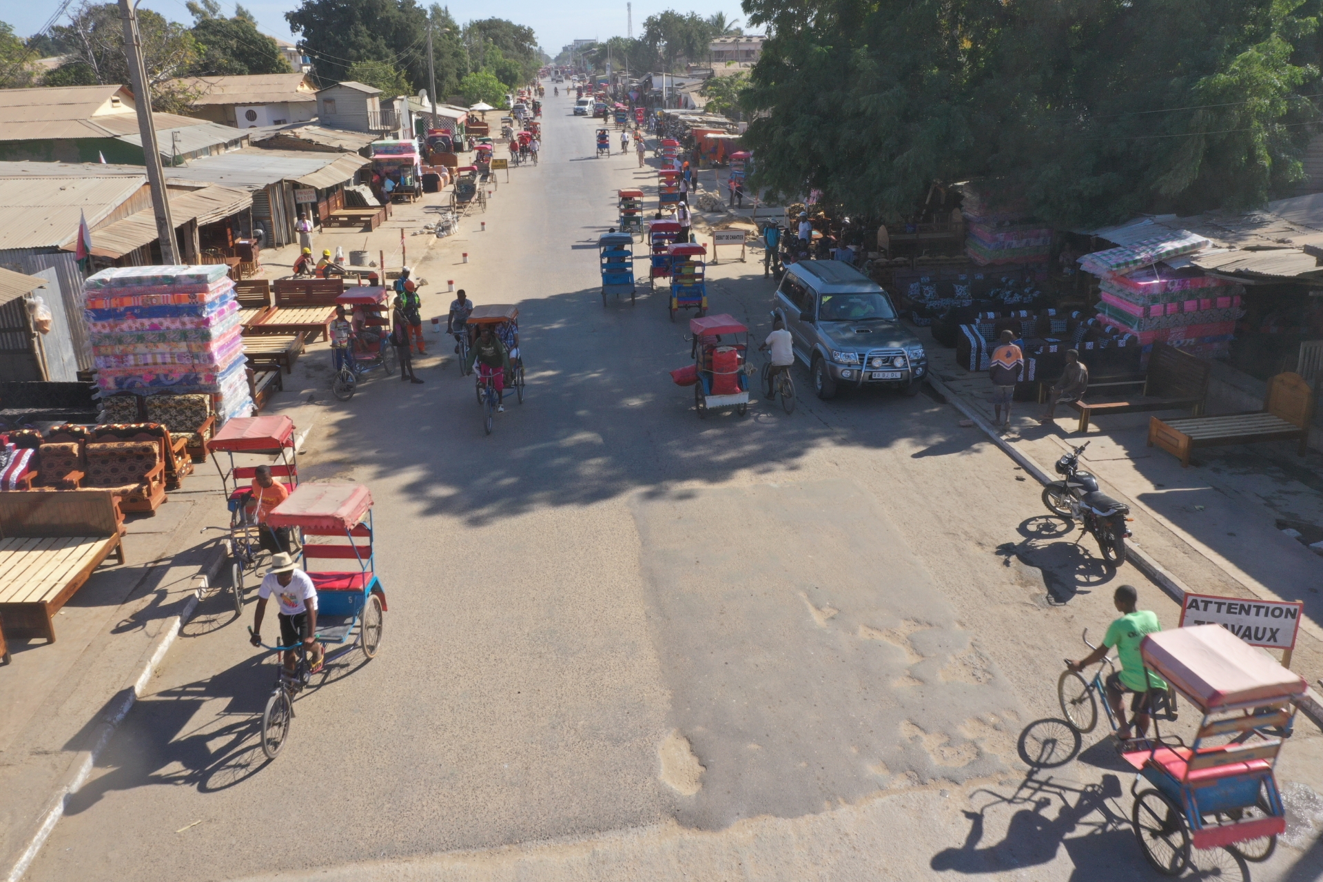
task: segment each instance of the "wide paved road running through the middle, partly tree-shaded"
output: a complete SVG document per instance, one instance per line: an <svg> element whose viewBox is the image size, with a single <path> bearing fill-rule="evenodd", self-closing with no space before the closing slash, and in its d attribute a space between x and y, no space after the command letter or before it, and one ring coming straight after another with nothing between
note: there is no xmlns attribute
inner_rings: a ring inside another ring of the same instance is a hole
<svg viewBox="0 0 1323 882"><path fill-rule="evenodd" d="M208 600L30 878L1147 878L1099 735L1028 779L1016 742L1114 584L1174 606L925 395L700 422L665 376L683 324L595 287L614 189L651 171L593 159L572 103L487 231L421 264L520 303L528 398L493 435L448 353L344 405L318 370L287 385L304 476L377 501L380 656L328 668L265 763L274 669ZM766 332L755 264L709 278ZM1319 788L1319 741L1283 776ZM1314 878L1299 860L1254 878Z"/></svg>

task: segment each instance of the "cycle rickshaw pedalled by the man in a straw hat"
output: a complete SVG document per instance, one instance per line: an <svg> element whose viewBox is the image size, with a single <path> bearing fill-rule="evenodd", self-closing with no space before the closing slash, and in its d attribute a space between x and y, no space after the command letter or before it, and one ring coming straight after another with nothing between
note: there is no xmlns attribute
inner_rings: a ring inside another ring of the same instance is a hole
<svg viewBox="0 0 1323 882"><path fill-rule="evenodd" d="M298 530L303 569L318 590L316 639L333 644L323 664L355 649L373 659L381 647L386 592L377 577L373 551L372 493L361 484L300 484L267 516L271 526ZM315 537L314 541L306 541ZM343 537L344 542L332 541ZM366 540L366 542L361 542ZM312 570L314 562L331 561L343 569ZM352 561L341 565L339 561ZM273 652L302 647L269 647ZM270 759L280 752L294 719L294 697L308 684L307 659L292 676L278 666L275 689L262 711L262 752Z"/></svg>

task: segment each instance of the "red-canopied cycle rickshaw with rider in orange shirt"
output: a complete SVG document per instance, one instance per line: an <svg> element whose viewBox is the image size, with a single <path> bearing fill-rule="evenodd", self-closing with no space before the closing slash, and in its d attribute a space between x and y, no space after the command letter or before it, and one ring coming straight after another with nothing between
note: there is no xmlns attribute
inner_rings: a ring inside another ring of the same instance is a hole
<svg viewBox="0 0 1323 882"><path fill-rule="evenodd" d="M261 464L271 469L273 480L280 481L290 491L299 485L299 461L294 450L294 421L283 414L271 417L234 417L212 438L208 448L212 461L221 476L221 489L230 510L229 536L225 540L229 561L226 567L230 578L230 592L234 611L243 612L245 575L261 581L261 563L265 559L262 530L257 522L257 510L249 510L253 499L250 481ZM221 464L225 454L226 464ZM237 465L234 455L261 458L262 461L250 465ZM245 481L241 484L241 481ZM270 518L267 528L271 526ZM213 528L221 529L221 528ZM269 540L274 542L275 534Z"/></svg>

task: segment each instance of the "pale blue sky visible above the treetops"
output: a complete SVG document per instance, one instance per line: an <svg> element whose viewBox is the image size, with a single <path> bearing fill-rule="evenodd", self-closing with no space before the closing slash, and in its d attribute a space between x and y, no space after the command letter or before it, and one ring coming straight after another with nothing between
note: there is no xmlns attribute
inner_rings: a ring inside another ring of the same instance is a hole
<svg viewBox="0 0 1323 882"><path fill-rule="evenodd" d="M140 0L139 5L153 9L175 21L192 22L193 20L188 15L188 9L184 8L184 0ZM221 5L233 15L234 0L221 0ZM295 40L284 21L284 13L298 5L296 0L249 0L242 5L253 13L263 33L283 40ZM566 4L549 4L545 0L458 0L450 4L442 1L442 5L448 5L450 15L460 24L475 19L509 19L516 24L528 25L537 34L542 49L553 57L561 46L573 40L606 40L607 37L626 36L624 0L574 0ZM52 3L17 3L16 0L11 3L5 0L0 3L0 21L13 25L13 30L19 36L28 37L46 24L46 19L53 12L52 7ZM644 19L665 9L693 11L703 16L725 12L728 19L744 22L744 12L737 0L718 0L717 3L705 0L701 4L685 0L675 0L673 3L635 0L634 36L639 36Z"/></svg>

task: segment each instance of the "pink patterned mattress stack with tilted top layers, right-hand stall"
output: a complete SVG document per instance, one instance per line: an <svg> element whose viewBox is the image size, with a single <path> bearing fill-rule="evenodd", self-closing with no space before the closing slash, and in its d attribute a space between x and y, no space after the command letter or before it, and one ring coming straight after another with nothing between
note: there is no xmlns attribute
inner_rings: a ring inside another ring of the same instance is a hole
<svg viewBox="0 0 1323 882"><path fill-rule="evenodd" d="M1226 357L1245 313L1245 288L1181 259L1209 245L1201 235L1174 230L1080 258L1080 267L1099 279L1098 320L1134 335L1146 352L1166 342L1205 358Z"/></svg>

